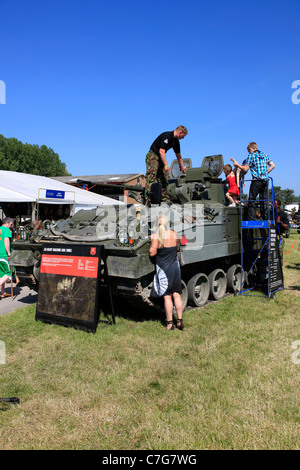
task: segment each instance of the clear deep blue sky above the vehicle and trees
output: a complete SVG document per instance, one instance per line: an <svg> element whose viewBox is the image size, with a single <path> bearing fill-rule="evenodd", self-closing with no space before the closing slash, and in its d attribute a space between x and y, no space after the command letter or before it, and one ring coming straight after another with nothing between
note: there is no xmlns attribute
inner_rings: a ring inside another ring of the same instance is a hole
<svg viewBox="0 0 300 470"><path fill-rule="evenodd" d="M182 124L193 166L241 162L255 141L298 196L299 17L299 0L1 0L0 134L51 147L72 175L144 173Z"/></svg>

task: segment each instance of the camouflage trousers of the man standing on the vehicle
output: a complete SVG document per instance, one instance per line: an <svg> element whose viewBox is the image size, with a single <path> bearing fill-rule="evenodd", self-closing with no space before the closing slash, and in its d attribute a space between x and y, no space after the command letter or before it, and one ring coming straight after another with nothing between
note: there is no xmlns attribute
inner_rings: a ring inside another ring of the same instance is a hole
<svg viewBox="0 0 300 470"><path fill-rule="evenodd" d="M161 183L161 200L170 201L170 197L167 194L168 186L168 172L164 169L161 158L156 153L150 152L146 155L146 193L151 191L152 183Z"/></svg>

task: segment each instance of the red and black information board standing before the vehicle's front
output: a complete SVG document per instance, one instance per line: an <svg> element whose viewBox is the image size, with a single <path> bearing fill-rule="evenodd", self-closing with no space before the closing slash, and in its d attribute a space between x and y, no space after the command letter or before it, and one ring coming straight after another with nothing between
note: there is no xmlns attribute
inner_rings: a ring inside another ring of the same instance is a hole
<svg viewBox="0 0 300 470"><path fill-rule="evenodd" d="M101 245L45 246L36 319L95 331Z"/></svg>

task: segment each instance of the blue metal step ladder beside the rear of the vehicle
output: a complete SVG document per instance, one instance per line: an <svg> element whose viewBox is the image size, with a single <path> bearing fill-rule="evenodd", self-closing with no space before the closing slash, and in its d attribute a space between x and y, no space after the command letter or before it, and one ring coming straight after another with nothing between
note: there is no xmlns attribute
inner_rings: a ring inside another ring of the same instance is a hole
<svg viewBox="0 0 300 470"><path fill-rule="evenodd" d="M241 181L241 186L246 181L251 180ZM271 197L269 189L271 189ZM257 295L259 293L259 295L272 298L275 292L284 289L273 180L268 178L268 199L250 201L267 205L267 220L261 220L261 218L245 220L249 200L243 199L242 187L240 187L240 194L241 286L239 294Z"/></svg>

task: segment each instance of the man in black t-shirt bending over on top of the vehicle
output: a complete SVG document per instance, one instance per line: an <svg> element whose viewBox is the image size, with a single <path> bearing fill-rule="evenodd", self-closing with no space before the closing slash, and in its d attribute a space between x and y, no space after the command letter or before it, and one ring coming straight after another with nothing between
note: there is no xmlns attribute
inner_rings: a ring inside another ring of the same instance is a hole
<svg viewBox="0 0 300 470"><path fill-rule="evenodd" d="M168 176L170 173L166 153L171 148L178 159L180 170L184 173L186 168L180 153L179 140L184 139L188 131L184 126L178 126L175 131L163 132L153 142L146 155L146 191L151 191L152 183L159 182L162 186L162 201L168 201L167 194Z"/></svg>

